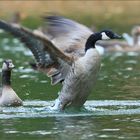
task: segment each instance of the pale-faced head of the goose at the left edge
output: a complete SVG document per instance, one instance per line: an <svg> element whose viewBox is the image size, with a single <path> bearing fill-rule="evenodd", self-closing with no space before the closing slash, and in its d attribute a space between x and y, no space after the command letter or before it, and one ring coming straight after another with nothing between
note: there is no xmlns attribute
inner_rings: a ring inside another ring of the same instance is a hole
<svg viewBox="0 0 140 140"><path fill-rule="evenodd" d="M2 70L3 71L10 71L15 68L11 59L7 59L3 61Z"/></svg>

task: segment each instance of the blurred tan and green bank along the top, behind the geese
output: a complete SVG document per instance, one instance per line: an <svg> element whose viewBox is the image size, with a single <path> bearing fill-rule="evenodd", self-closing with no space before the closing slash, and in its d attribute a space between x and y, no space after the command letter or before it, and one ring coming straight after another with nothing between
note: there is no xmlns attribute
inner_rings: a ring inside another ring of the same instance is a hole
<svg viewBox="0 0 140 140"><path fill-rule="evenodd" d="M35 28L41 15L57 13L96 28L129 32L140 23L140 1L0 1L0 17L11 19L19 12L21 23Z"/></svg>

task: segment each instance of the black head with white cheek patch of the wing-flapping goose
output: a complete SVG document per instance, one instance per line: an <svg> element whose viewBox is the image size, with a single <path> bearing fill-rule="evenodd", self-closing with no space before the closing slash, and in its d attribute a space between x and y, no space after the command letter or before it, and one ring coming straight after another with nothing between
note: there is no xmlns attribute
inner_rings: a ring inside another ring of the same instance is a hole
<svg viewBox="0 0 140 140"><path fill-rule="evenodd" d="M100 32L101 40L108 40L108 39L121 39L122 37L118 34L114 33L111 30L103 30Z"/></svg>

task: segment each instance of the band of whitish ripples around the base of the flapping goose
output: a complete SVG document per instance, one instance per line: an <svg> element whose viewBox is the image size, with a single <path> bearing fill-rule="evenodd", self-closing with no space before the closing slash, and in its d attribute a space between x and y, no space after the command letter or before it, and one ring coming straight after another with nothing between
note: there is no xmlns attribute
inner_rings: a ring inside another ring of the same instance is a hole
<svg viewBox="0 0 140 140"><path fill-rule="evenodd" d="M0 119L140 114L140 100L87 101L85 109L80 111L66 110L63 112L50 110L49 106L52 104L53 101L28 100L24 101L23 107L1 107Z"/></svg>

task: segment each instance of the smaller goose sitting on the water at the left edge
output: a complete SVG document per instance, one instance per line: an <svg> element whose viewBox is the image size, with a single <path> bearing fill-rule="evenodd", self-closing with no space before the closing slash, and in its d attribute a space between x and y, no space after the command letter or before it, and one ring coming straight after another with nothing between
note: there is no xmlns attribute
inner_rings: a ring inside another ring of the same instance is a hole
<svg viewBox="0 0 140 140"><path fill-rule="evenodd" d="M12 60L3 61L2 90L0 93L0 106L21 106L22 100L11 87L11 70L14 68Z"/></svg>

